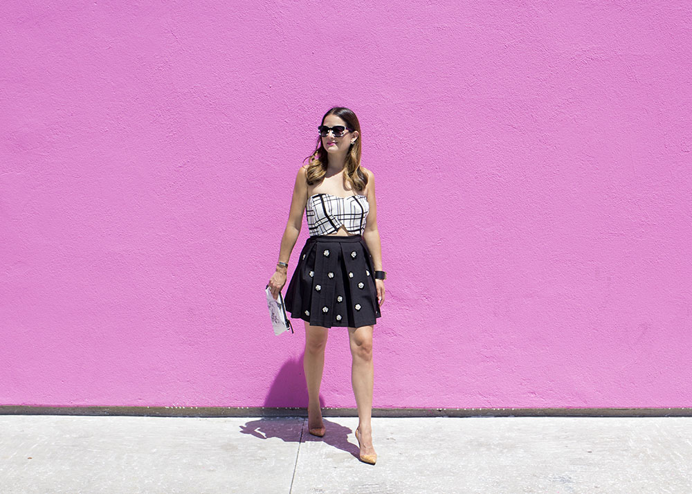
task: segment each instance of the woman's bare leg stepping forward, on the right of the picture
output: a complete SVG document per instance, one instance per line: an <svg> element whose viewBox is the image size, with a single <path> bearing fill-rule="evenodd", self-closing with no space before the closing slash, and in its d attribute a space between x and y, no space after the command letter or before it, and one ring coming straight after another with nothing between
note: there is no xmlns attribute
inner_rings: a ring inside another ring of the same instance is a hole
<svg viewBox="0 0 692 494"><path fill-rule="evenodd" d="M349 328L351 344L351 382L353 394L358 405L358 432L361 443L361 456L374 455L372 447L372 326Z"/></svg>

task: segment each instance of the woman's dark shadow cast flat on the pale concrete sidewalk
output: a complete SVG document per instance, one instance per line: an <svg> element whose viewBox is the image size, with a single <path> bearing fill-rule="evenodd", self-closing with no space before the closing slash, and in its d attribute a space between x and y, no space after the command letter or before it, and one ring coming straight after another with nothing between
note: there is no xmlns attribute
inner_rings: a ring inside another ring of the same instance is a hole
<svg viewBox="0 0 692 494"><path fill-rule="evenodd" d="M339 423L323 419L325 423L325 437L316 437L307 432L305 423L307 419L300 419L302 434L298 434L295 430L295 419L257 419L247 422L244 426L240 426L242 434L250 434L257 439L270 439L277 437L282 441L289 442L307 442L307 441L322 441L329 444L333 448L351 453L354 457L358 457L360 451L358 447L348 441L348 435L352 434L352 430ZM302 440L300 439L302 437Z"/></svg>

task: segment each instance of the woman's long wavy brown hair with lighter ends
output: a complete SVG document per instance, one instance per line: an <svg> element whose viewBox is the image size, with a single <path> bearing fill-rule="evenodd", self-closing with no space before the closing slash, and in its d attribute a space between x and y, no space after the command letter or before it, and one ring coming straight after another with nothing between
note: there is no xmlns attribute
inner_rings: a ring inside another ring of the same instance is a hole
<svg viewBox="0 0 692 494"><path fill-rule="evenodd" d="M358 122L356 113L348 108L334 107L327 110L325 116L322 117L322 125L325 124L325 118L329 115L336 115L338 118L346 122L346 127L352 131L358 131L356 142L349 147L349 152L346 155L346 163L344 164L344 183L347 188L353 190L365 190L367 185L367 175L361 170L361 124ZM307 183L313 185L322 181L327 173L327 149L322 145L322 138L318 136L317 146L315 151L304 159L308 162L307 166Z"/></svg>

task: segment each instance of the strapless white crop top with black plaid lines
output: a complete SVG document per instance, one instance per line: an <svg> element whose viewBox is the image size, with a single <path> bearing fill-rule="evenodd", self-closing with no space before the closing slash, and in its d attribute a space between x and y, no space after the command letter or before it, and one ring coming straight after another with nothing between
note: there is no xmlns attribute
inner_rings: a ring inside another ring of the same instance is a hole
<svg viewBox="0 0 692 494"><path fill-rule="evenodd" d="M336 233L341 226L351 235L363 235L369 210L365 196L313 194L307 198L305 205L310 236Z"/></svg>

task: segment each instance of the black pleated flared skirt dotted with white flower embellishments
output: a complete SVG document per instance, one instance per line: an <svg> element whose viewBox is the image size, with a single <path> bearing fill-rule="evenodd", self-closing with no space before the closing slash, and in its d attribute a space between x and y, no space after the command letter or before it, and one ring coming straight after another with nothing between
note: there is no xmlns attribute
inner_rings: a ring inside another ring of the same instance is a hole
<svg viewBox="0 0 692 494"><path fill-rule="evenodd" d="M361 327L380 317L372 257L361 235L305 242L284 297L286 311L312 326Z"/></svg>

